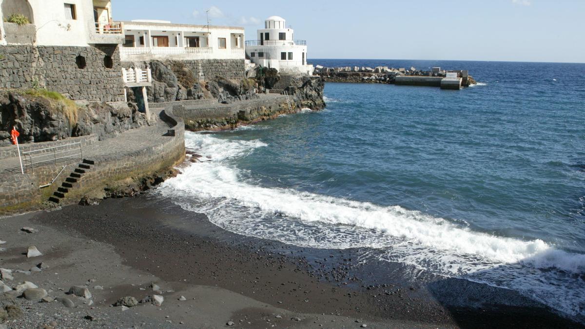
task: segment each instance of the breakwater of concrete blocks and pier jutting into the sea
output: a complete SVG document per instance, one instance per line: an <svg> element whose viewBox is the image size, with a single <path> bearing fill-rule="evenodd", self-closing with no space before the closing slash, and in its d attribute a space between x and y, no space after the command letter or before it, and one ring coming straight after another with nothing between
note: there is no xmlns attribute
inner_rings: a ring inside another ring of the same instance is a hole
<svg viewBox="0 0 585 329"><path fill-rule="evenodd" d="M315 66L315 75L325 82L344 83L386 83L396 85L421 85L441 87L443 89L459 89L476 84L467 70L431 70L411 68L394 68L387 66L371 67L322 67Z"/></svg>

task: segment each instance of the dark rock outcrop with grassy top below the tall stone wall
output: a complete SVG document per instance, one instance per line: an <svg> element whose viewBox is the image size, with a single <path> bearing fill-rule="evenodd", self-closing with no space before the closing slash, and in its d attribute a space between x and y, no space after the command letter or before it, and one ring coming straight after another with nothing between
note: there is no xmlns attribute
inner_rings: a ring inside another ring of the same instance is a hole
<svg viewBox="0 0 585 329"><path fill-rule="evenodd" d="M11 144L12 126L20 132L20 143L35 143L91 134L103 140L147 125L146 116L125 103L66 103L44 97L45 92L0 93L0 146Z"/></svg>

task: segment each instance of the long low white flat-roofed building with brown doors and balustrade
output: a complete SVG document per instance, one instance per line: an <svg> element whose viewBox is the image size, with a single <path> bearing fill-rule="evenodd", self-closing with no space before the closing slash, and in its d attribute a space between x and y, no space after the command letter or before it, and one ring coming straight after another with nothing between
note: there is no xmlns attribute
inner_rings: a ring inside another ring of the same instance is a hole
<svg viewBox="0 0 585 329"><path fill-rule="evenodd" d="M123 26L122 61L245 59L244 28L164 20L132 20Z"/></svg>

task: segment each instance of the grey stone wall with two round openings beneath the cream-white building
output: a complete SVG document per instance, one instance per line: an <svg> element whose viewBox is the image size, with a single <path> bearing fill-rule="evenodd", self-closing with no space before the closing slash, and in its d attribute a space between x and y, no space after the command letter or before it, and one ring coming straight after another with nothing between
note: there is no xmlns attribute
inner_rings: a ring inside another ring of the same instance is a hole
<svg viewBox="0 0 585 329"><path fill-rule="evenodd" d="M0 88L40 87L72 100L124 101L118 46L1 46L0 55Z"/></svg>

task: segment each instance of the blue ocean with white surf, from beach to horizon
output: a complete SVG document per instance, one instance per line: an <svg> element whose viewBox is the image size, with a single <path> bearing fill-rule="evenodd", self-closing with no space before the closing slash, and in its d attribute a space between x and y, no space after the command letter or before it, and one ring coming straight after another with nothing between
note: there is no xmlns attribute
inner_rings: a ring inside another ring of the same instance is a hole
<svg viewBox="0 0 585 329"><path fill-rule="evenodd" d="M323 111L188 132L203 162L158 193L230 232L360 248L358 262L512 289L583 321L585 64L310 62L467 69L479 83L326 83Z"/></svg>

